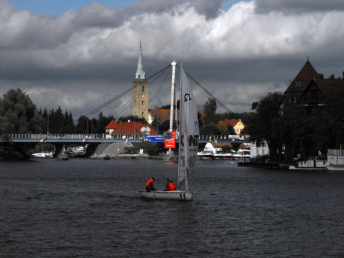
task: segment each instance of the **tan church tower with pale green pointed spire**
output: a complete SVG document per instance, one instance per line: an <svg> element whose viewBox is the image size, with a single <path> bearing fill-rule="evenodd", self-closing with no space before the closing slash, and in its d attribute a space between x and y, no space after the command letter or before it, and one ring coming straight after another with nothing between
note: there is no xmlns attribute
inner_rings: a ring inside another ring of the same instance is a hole
<svg viewBox="0 0 344 258"><path fill-rule="evenodd" d="M143 69L142 47L140 43L140 56L138 58L138 70L133 83L133 116L145 118L148 122L148 85L146 73Z"/></svg>

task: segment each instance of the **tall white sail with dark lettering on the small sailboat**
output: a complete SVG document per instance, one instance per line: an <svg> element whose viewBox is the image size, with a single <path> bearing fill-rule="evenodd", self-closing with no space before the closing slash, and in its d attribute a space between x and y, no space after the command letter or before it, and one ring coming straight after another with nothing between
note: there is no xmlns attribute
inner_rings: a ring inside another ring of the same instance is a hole
<svg viewBox="0 0 344 258"><path fill-rule="evenodd" d="M181 70L178 189L185 185L187 191L189 177L195 173L200 129L198 127L197 106L191 85L184 69Z"/></svg>

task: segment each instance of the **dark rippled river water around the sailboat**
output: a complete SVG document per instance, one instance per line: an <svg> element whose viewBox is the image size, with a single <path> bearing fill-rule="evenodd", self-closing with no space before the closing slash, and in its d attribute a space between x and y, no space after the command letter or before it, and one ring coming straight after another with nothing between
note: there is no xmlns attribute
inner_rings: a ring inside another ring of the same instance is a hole
<svg viewBox="0 0 344 258"><path fill-rule="evenodd" d="M344 173L197 160L191 202L144 200L162 160L0 162L0 257L344 257Z"/></svg>

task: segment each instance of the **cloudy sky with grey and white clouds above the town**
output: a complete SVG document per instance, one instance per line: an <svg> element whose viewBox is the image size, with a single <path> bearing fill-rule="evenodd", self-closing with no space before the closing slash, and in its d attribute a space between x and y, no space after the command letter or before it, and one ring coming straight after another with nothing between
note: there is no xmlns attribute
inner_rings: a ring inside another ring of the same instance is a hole
<svg viewBox="0 0 344 258"><path fill-rule="evenodd" d="M88 114L132 86L142 43L147 77L182 62L230 111L250 112L308 58L343 78L343 24L337 0L0 0L0 96L19 88L39 109ZM169 105L170 89L152 84L149 107ZM194 94L202 109L209 96ZM101 111L129 116L131 97Z"/></svg>

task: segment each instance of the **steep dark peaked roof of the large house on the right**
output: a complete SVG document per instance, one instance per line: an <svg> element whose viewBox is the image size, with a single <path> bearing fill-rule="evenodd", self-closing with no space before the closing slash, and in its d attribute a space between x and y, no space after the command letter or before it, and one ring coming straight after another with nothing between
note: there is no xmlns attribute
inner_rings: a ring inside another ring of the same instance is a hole
<svg viewBox="0 0 344 258"><path fill-rule="evenodd" d="M313 79L321 80L323 74L318 74L310 61L307 61L284 94L302 94Z"/></svg>

